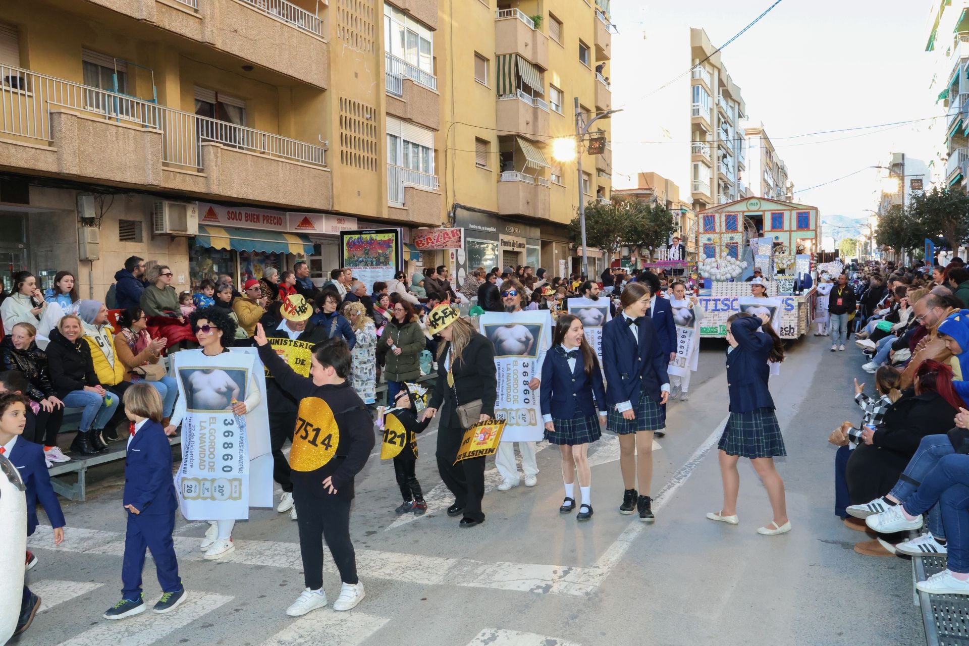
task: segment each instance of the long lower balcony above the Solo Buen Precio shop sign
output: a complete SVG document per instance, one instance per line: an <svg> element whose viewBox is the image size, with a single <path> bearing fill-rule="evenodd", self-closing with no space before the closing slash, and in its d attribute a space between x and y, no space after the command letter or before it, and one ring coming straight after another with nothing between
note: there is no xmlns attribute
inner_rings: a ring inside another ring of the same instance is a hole
<svg viewBox="0 0 969 646"><path fill-rule="evenodd" d="M19 68L0 67L0 79L8 168L205 197L330 203L321 146Z"/></svg>

